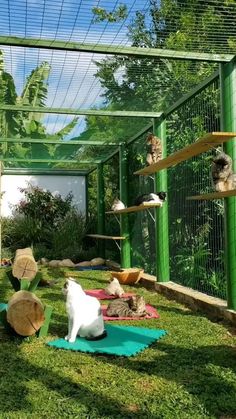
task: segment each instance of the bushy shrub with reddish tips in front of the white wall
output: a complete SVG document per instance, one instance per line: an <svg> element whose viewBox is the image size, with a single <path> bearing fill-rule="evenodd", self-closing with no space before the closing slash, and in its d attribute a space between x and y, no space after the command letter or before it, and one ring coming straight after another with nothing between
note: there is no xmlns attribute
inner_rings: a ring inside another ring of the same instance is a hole
<svg viewBox="0 0 236 419"><path fill-rule="evenodd" d="M14 216L3 221L3 246L15 252L33 247L35 259L78 259L85 235L85 218L72 205L73 196L53 195L29 185L14 207Z"/></svg>

